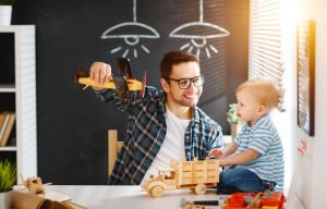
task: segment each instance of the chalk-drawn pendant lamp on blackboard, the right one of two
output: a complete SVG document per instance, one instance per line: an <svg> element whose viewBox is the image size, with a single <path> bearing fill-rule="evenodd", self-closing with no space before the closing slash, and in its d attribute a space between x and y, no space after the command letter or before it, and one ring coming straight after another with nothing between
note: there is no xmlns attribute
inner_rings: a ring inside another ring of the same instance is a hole
<svg viewBox="0 0 327 209"><path fill-rule="evenodd" d="M213 45L209 45L207 48L207 39L223 38L229 35L230 33L227 29L211 23L203 22L203 0L199 0L199 21L180 25L169 34L169 37L191 39L191 42L183 45L180 49L186 49L189 52L192 52L192 50L196 48L196 54L199 56L201 49L203 48L205 49L207 57L210 58L209 49L215 53L218 53L218 49Z"/></svg>

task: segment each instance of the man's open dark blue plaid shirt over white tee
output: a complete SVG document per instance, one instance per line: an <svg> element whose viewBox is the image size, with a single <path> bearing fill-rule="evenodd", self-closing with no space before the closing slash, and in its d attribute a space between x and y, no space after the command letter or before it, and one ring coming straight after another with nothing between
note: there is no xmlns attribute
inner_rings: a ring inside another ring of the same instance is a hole
<svg viewBox="0 0 327 209"><path fill-rule="evenodd" d="M122 101L112 89L97 91L102 101L114 103L129 113L124 144L114 163L109 184L138 185L158 153L165 139L166 96L162 90L146 87L145 97L130 91L129 100ZM199 108L193 115L185 133L185 158L204 159L213 148L222 145L221 127Z"/></svg>

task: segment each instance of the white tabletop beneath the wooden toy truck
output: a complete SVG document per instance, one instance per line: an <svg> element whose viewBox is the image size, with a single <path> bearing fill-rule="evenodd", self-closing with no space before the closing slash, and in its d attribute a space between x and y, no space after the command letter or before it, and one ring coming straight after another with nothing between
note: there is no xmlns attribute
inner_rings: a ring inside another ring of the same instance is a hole
<svg viewBox="0 0 327 209"><path fill-rule="evenodd" d="M209 195L195 195L189 189L165 190L160 198L153 198L141 189L140 186L84 186L84 185L47 185L46 192L56 192L66 195L73 202L90 209L104 208L131 208L131 209L178 209L181 208L181 199L185 200L219 200L227 196L216 195L214 190ZM221 205L221 204L220 204ZM220 208L220 207L210 207Z"/></svg>

